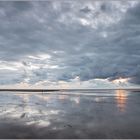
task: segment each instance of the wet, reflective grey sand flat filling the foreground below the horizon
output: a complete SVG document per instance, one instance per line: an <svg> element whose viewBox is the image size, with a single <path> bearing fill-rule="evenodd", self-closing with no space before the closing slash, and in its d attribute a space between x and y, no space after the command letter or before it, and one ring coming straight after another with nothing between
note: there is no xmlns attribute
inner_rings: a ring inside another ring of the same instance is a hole
<svg viewBox="0 0 140 140"><path fill-rule="evenodd" d="M140 138L140 92L0 92L0 138Z"/></svg>

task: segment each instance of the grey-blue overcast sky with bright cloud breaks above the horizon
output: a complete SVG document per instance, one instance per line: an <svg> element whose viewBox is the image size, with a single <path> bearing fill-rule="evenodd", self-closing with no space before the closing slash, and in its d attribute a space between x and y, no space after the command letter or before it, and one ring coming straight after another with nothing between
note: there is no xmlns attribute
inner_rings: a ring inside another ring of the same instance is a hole
<svg viewBox="0 0 140 140"><path fill-rule="evenodd" d="M140 2L0 1L0 88L140 87Z"/></svg>

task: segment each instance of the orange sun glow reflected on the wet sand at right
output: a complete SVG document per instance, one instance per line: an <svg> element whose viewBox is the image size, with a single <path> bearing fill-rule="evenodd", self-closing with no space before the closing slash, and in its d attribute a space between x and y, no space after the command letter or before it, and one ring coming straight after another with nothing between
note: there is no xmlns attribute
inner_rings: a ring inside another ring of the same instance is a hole
<svg viewBox="0 0 140 140"><path fill-rule="evenodd" d="M121 112L125 111L126 108L126 101L127 101L127 93L125 90L116 90L116 102L117 102L117 107Z"/></svg>

